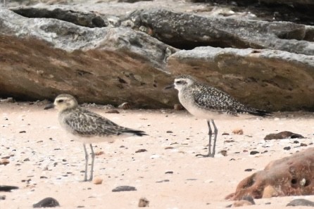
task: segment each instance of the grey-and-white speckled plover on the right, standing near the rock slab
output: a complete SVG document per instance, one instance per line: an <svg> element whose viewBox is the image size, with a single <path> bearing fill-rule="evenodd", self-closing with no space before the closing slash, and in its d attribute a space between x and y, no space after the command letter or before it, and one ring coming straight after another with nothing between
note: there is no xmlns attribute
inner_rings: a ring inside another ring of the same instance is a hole
<svg viewBox="0 0 314 209"><path fill-rule="evenodd" d="M176 77L174 84L165 87L165 89L173 87L179 91L178 97L180 103L189 111L189 113L195 115L197 118L204 118L207 120L209 135L208 154L199 154L197 156L215 156L218 128L215 125L214 118L218 118L222 114L231 115L233 117L243 113L258 116L271 114L266 110L258 110L244 106L244 104L239 103L239 101L233 99L232 96L224 91L198 82L194 77L189 75L180 75ZM213 151L211 151L211 137L213 134L211 123L214 127Z"/></svg>

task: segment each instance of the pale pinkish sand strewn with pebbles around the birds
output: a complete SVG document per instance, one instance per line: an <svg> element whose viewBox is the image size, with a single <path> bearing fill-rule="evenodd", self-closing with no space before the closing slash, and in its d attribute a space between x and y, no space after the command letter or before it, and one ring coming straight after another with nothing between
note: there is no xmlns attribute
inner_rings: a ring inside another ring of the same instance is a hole
<svg viewBox="0 0 314 209"><path fill-rule="evenodd" d="M277 113L271 118L216 120L218 126L215 158L199 158L207 153L208 127L186 111L119 110L89 108L126 127L141 129L149 136L130 137L114 143L94 144L94 177L102 184L82 182L84 151L58 125L56 110L29 103L0 103L0 184L19 186L0 192L0 208L32 208L53 197L61 208L138 208L139 199L149 200L149 208L225 208L233 201L225 196L253 172L263 170L271 160L290 156L314 142L313 113ZM232 134L243 129L244 134ZM266 134L280 131L302 134L306 139L265 141ZM222 135L222 133L229 135ZM234 142L227 142L234 140ZM308 144L300 146L294 141ZM290 146L291 150L284 150ZM136 153L139 149L144 152ZM258 151L250 155L251 151ZM251 172L245 170L251 168ZM137 191L113 192L116 186L134 186ZM285 208L296 196L257 199L244 208ZM303 196L314 201L313 196ZM297 207L296 207L297 208ZM299 207L301 208L301 207ZM306 207L303 207L306 208Z"/></svg>

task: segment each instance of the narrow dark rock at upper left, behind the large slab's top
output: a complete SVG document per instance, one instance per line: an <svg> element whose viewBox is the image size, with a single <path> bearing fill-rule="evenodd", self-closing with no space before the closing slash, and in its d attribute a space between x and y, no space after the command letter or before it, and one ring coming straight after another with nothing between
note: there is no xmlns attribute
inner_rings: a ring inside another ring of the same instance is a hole
<svg viewBox="0 0 314 209"><path fill-rule="evenodd" d="M27 18L54 18L84 27L106 27L108 25L108 20L103 20L101 16L96 15L95 13L83 13L62 8L54 8L50 10L49 8L23 7L13 8L12 11Z"/></svg>

